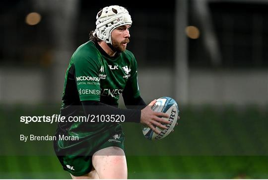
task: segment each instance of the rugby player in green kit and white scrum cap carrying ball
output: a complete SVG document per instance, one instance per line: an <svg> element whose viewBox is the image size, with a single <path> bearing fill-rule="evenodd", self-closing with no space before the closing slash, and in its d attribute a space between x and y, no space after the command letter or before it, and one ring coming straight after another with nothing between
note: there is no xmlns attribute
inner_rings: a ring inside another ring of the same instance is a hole
<svg viewBox="0 0 268 180"><path fill-rule="evenodd" d="M72 179L127 179L124 133L113 115L125 122L155 126L169 121L162 112L146 106L137 84L137 63L128 51L132 18L122 6L104 7L97 13L90 40L73 53L66 72L62 116L105 115L107 122L62 122L56 134L78 136L79 141L54 141L55 152ZM118 108L122 93L128 109ZM79 107L82 107L81 109ZM103 116L104 117L104 116ZM111 120L111 122L109 122Z"/></svg>

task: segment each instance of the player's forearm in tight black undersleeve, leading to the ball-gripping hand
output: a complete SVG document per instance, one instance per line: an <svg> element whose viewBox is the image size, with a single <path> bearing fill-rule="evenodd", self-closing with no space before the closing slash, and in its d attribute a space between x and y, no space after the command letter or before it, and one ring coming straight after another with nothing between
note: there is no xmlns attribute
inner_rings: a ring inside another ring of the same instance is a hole
<svg viewBox="0 0 268 180"><path fill-rule="evenodd" d="M140 122L139 109L120 109L114 106L101 103L99 101L85 100L81 101L86 115L124 115L125 122Z"/></svg>

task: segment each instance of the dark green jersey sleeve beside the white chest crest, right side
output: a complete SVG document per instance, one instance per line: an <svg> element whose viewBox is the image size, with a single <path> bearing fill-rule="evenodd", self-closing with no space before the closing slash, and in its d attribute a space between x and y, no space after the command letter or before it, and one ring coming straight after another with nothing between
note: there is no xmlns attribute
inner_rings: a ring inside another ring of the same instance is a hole
<svg viewBox="0 0 268 180"><path fill-rule="evenodd" d="M123 93L123 97L129 96L129 97L136 98L140 96L139 88L138 88L138 81L137 81L137 62L135 58L133 59L131 77L128 79L127 85L122 93Z"/></svg>

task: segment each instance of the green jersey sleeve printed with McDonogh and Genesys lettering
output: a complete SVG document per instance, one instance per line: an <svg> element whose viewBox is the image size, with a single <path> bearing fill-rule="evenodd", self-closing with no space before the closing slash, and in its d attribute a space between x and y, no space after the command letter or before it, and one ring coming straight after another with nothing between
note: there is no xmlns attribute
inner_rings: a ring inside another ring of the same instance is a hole
<svg viewBox="0 0 268 180"><path fill-rule="evenodd" d="M76 55L73 57L74 78L80 101L100 100L100 62L88 56Z"/></svg>

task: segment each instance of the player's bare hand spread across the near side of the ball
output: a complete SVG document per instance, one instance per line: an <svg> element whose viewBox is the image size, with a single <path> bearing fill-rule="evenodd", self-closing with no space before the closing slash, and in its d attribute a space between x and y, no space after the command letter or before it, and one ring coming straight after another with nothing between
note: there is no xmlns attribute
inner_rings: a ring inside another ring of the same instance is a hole
<svg viewBox="0 0 268 180"><path fill-rule="evenodd" d="M163 112L155 112L151 109L152 105L155 104L156 99L151 101L145 108L141 110L140 113L140 123L144 126L148 126L153 130L153 132L159 134L160 132L156 130L155 126L167 129L166 126L162 125L161 123L169 124L168 120L162 119L161 117L168 118L169 115Z"/></svg>

